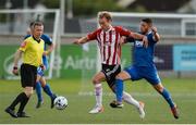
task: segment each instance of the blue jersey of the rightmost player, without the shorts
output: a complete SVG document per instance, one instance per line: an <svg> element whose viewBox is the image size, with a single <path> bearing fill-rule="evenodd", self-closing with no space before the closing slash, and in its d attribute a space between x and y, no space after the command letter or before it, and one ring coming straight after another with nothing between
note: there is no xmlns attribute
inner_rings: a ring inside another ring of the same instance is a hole
<svg viewBox="0 0 196 125"><path fill-rule="evenodd" d="M149 32L147 35L148 47L145 48L142 40L127 38L128 42L134 42L133 62L135 66L155 66L154 52L157 41L154 40L154 35Z"/></svg>

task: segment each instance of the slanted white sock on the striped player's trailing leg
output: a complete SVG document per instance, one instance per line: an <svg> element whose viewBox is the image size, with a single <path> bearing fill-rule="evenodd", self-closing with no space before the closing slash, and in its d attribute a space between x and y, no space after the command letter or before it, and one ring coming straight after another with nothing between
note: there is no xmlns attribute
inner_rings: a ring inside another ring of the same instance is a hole
<svg viewBox="0 0 196 125"><path fill-rule="evenodd" d="M137 100L135 100L130 93L123 91L123 100L126 103L133 104L136 108L139 108L139 102Z"/></svg>

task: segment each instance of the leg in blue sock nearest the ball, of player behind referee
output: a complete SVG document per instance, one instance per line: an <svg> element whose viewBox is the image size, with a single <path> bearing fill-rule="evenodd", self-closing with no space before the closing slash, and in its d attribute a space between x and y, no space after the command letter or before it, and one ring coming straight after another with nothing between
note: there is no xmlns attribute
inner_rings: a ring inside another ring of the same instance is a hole
<svg viewBox="0 0 196 125"><path fill-rule="evenodd" d="M42 76L40 78L40 84L41 84L41 87L44 89L44 91L50 97L51 99L51 109L53 108L53 101L54 99L57 98L57 96L52 92L51 90L51 87L49 86L49 84L46 83L46 79L45 77Z"/></svg>

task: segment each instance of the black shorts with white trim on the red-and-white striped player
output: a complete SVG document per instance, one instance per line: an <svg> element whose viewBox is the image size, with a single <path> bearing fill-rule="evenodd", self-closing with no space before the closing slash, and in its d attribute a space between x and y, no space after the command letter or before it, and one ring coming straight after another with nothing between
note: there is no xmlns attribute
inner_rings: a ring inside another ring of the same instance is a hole
<svg viewBox="0 0 196 125"><path fill-rule="evenodd" d="M121 65L102 64L101 72L105 74L108 85L112 87L115 82L115 76L121 72Z"/></svg>

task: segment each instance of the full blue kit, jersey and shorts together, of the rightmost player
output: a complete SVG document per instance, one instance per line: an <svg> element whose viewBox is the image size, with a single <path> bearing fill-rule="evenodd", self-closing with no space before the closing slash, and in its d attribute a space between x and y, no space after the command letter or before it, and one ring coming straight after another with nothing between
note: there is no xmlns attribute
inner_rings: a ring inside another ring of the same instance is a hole
<svg viewBox="0 0 196 125"><path fill-rule="evenodd" d="M161 83L154 63L155 45L157 41L154 40L154 35L151 32L146 36L148 39L147 48L144 47L142 40L126 38L128 42L134 42L134 64L126 67L124 71L130 74L132 80L145 78L151 85L157 85Z"/></svg>

